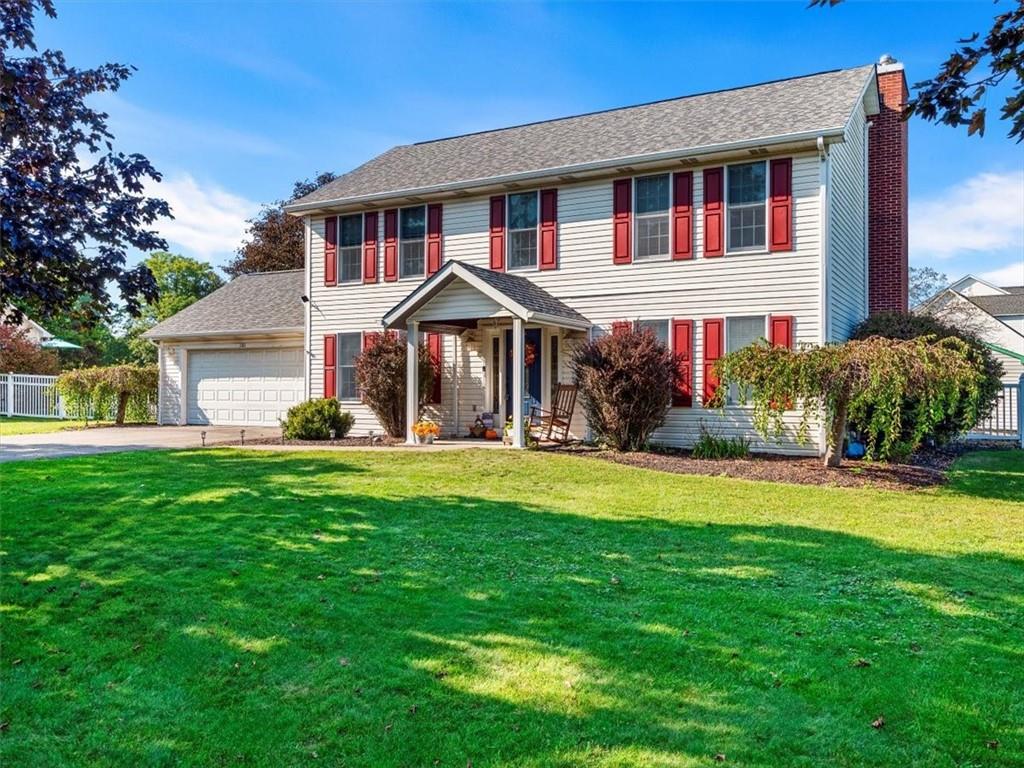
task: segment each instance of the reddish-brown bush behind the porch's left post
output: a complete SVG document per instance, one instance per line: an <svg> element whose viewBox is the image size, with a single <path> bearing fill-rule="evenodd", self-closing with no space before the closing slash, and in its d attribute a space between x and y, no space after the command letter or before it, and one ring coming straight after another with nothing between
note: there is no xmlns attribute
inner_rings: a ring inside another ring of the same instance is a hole
<svg viewBox="0 0 1024 768"><path fill-rule="evenodd" d="M355 360L355 381L362 401L391 437L406 436L406 342L396 333L381 334ZM420 344L420 407L433 389L430 351ZM419 418L415 414L413 421Z"/></svg>

